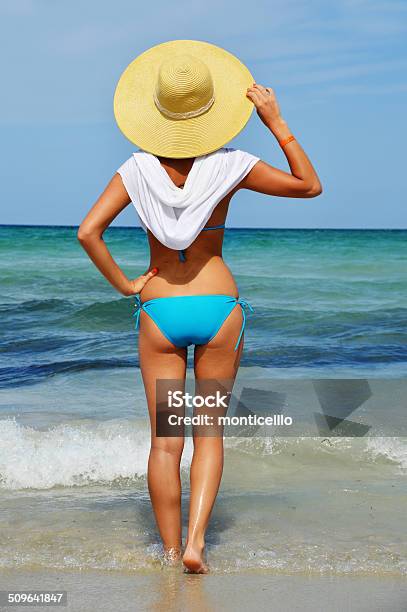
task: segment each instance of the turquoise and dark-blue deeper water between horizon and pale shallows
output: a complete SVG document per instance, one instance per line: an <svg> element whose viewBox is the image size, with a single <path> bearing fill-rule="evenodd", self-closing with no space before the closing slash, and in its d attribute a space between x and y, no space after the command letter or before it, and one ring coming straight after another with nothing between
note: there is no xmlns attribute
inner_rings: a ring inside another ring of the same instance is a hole
<svg viewBox="0 0 407 612"><path fill-rule="evenodd" d="M125 272L148 263L136 228L106 241ZM242 365L407 372L407 232L228 230L224 256L255 309ZM138 365L132 302L74 228L0 227L3 386Z"/></svg>

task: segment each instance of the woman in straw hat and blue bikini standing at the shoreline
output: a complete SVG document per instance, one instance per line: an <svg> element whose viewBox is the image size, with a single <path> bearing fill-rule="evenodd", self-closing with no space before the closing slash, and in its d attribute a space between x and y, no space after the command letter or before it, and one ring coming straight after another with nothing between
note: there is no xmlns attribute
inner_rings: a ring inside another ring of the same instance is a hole
<svg viewBox="0 0 407 612"><path fill-rule="evenodd" d="M291 173L223 147L254 107L283 148ZM140 368L151 422L148 487L156 522L167 558L182 555L187 571L206 573L205 531L222 476L223 437L195 431L183 551L184 439L157 435L156 381L185 380L189 344L194 344L197 381L235 379L246 304L222 259L223 228L234 194L250 189L312 198L322 188L273 90L253 83L237 58L209 43L170 41L136 58L117 86L115 117L140 149L113 176L81 223L78 239L113 287L124 296L136 295ZM130 202L150 245L148 271L133 280L102 238Z"/></svg>

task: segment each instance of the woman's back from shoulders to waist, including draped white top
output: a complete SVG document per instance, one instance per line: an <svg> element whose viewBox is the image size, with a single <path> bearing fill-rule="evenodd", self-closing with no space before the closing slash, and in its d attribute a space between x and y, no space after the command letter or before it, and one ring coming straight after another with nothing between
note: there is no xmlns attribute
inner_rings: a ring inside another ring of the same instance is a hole
<svg viewBox="0 0 407 612"><path fill-rule="evenodd" d="M199 158L158 158L138 151L119 169L148 234L150 266L158 268L142 301L203 293L238 296L222 259L230 200L259 158L221 148Z"/></svg>

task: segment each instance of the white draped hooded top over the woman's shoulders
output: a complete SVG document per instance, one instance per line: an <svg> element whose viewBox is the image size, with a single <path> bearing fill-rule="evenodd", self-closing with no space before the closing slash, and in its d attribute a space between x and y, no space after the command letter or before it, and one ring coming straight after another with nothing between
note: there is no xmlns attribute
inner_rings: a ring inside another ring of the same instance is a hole
<svg viewBox="0 0 407 612"><path fill-rule="evenodd" d="M152 153L139 149L117 172L147 228L170 249L189 247L215 206L250 172L259 157L220 148L196 157L184 188L177 187Z"/></svg>

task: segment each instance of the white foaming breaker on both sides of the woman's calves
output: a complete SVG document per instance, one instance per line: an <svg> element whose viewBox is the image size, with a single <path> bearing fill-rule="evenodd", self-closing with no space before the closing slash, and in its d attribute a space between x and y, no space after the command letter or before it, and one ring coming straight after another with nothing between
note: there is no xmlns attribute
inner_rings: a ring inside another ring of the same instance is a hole
<svg viewBox="0 0 407 612"><path fill-rule="evenodd" d="M0 421L0 488L49 489L112 484L146 476L150 446L144 421L70 422L47 430L23 426L15 419ZM364 465L394 465L407 470L404 438L226 438L229 464L240 470L247 455L276 467L298 465L345 469ZM182 467L190 463L187 439Z"/></svg>

